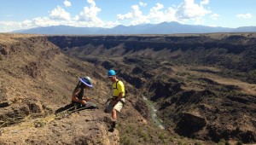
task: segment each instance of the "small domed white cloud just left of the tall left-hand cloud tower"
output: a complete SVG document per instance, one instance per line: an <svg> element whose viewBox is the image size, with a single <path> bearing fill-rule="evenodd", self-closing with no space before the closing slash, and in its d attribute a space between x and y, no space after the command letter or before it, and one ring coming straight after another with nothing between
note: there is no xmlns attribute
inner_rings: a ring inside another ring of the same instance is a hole
<svg viewBox="0 0 256 145"><path fill-rule="evenodd" d="M54 20L70 20L70 14L62 9L61 6L57 6L57 8L53 9L49 17Z"/></svg>

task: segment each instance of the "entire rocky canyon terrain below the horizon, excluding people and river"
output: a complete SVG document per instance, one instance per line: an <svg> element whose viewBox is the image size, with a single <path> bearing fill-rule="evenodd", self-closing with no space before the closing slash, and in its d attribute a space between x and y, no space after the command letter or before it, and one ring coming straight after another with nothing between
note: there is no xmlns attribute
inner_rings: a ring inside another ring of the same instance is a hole
<svg viewBox="0 0 256 145"><path fill-rule="evenodd" d="M255 34L0 38L1 144L256 142ZM232 72L228 61L242 70ZM103 113L109 68L129 90L114 132ZM99 108L56 115L87 75L95 86L88 96ZM143 96L166 130L154 125Z"/></svg>

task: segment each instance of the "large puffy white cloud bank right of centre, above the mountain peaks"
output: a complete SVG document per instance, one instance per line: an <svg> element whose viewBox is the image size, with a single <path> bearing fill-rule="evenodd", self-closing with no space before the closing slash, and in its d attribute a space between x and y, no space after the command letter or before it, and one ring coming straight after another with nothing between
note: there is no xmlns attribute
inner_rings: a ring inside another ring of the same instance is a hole
<svg viewBox="0 0 256 145"><path fill-rule="evenodd" d="M130 25L141 23L160 23L163 21L177 21L184 23L192 20L196 24L204 22L203 18L207 14L211 14L211 10L205 7L209 0L201 0L200 3L195 3L194 0L184 0L178 6L166 8L161 3L156 3L149 10L148 14L143 14L138 5L131 6L131 12L126 14L117 14L118 20L130 20ZM142 4L140 4L142 5ZM213 14L212 19L217 19L218 15Z"/></svg>

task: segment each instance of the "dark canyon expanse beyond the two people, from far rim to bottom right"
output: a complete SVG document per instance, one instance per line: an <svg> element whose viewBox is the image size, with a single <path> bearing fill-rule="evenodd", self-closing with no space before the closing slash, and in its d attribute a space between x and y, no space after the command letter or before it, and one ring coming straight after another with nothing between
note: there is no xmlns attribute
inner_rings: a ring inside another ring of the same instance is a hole
<svg viewBox="0 0 256 145"><path fill-rule="evenodd" d="M166 129L255 142L255 33L53 36L66 54L119 70L157 106Z"/></svg>

